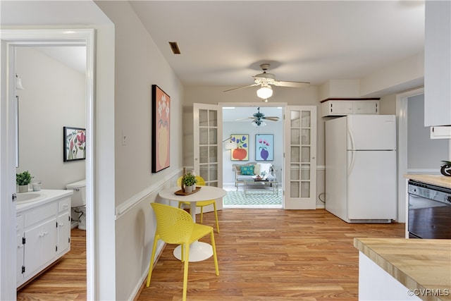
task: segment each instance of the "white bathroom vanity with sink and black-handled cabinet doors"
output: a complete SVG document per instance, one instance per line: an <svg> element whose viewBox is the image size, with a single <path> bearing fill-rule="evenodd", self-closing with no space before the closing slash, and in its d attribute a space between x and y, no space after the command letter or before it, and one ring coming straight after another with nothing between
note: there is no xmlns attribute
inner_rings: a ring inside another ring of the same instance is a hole
<svg viewBox="0 0 451 301"><path fill-rule="evenodd" d="M72 190L40 190L17 194L17 288L70 250L72 194Z"/></svg>

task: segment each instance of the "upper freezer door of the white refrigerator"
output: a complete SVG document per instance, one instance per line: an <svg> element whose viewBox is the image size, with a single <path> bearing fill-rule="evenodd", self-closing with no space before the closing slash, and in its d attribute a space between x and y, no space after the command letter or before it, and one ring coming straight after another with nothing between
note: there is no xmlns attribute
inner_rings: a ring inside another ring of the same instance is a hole
<svg viewBox="0 0 451 301"><path fill-rule="evenodd" d="M396 116L347 116L347 149L396 149Z"/></svg>

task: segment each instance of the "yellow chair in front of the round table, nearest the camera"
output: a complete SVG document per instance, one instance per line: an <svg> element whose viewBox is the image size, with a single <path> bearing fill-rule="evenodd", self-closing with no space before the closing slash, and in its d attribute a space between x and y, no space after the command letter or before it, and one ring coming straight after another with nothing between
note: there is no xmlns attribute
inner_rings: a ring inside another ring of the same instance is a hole
<svg viewBox="0 0 451 301"><path fill-rule="evenodd" d="M213 247L214 267L216 276L219 276L218 257L216 257L216 245L214 243L213 227L194 223L192 217L187 211L171 207L165 204L151 203L156 216L156 231L154 237L154 246L152 247L152 255L150 257L149 274L147 275L146 286L150 285L150 277L152 276L152 268L154 266L154 258L156 251L156 242L163 240L168 244L181 245L182 262L185 262L183 268L183 301L186 300L187 280L188 280L188 262L190 258L190 245L192 242L211 235L211 247ZM185 252L183 252L185 249ZM185 253L185 257L183 256Z"/></svg>

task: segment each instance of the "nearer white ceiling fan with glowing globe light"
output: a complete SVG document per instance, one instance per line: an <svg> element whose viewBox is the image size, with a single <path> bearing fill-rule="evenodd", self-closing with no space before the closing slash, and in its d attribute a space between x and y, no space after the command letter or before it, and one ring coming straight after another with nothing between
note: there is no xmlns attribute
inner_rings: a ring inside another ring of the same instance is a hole
<svg viewBox="0 0 451 301"><path fill-rule="evenodd" d="M266 70L269 69L269 66L270 64L268 63L262 63L260 65L260 68L261 70L263 70L263 73L259 73L253 76L254 84L243 87L236 87L230 90L225 90L224 92L260 85L261 86L260 89L257 90L257 96L260 97L261 99L267 99L273 95L271 85L280 87L297 87L297 88L307 87L310 85L310 82L287 82L282 80L276 80L276 75L273 75L273 73L266 73Z"/></svg>

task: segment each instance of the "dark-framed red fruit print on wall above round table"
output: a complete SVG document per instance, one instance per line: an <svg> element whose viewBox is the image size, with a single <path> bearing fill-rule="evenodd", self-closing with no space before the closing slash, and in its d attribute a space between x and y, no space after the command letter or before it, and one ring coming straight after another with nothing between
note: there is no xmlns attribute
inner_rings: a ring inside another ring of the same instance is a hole
<svg viewBox="0 0 451 301"><path fill-rule="evenodd" d="M152 173L169 167L171 97L152 85Z"/></svg>

